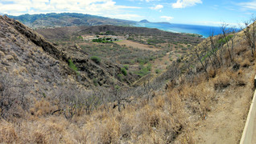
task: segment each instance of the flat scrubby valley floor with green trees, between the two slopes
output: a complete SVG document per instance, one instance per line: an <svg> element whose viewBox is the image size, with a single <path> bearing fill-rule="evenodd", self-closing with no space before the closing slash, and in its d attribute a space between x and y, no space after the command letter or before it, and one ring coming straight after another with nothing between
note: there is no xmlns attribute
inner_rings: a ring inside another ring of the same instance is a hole
<svg viewBox="0 0 256 144"><path fill-rule="evenodd" d="M202 41L186 34L122 26L72 26L36 31L56 45L80 46L89 56L126 66L128 72L141 77L165 71L172 61ZM109 38L109 42L93 42L102 38Z"/></svg>

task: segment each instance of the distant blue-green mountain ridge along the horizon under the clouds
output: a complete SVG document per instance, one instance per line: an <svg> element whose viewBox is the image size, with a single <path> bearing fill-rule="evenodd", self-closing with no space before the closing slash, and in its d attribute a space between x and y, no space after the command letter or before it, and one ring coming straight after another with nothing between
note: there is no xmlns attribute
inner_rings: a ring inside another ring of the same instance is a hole
<svg viewBox="0 0 256 144"><path fill-rule="evenodd" d="M26 26L31 28L98 25L130 26L135 23L133 21L77 13L23 14L19 16L7 16L18 20L19 22L23 22Z"/></svg>

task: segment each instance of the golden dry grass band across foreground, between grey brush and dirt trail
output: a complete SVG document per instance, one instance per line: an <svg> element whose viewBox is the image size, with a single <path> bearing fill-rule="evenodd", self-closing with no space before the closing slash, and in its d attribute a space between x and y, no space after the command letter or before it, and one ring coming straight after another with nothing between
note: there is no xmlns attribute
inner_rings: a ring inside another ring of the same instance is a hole
<svg viewBox="0 0 256 144"><path fill-rule="evenodd" d="M110 105L90 115L76 115L71 121L62 115L49 115L56 107L43 98L35 101L25 119L0 121L0 142L194 143L189 123L204 119L217 103L218 91L236 86L245 75L243 69L228 70L197 86L184 80L184 85L175 86L167 94L150 101L138 99L121 112Z"/></svg>

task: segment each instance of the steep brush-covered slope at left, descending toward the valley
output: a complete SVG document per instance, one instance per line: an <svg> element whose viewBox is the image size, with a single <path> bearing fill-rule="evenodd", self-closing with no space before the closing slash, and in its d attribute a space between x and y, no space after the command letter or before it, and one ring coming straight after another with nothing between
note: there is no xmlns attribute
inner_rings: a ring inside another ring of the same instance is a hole
<svg viewBox="0 0 256 144"><path fill-rule="evenodd" d="M54 96L56 86L85 88L62 60L60 50L23 24L0 17L0 113L23 116L33 98ZM21 107L19 107L21 106Z"/></svg>

